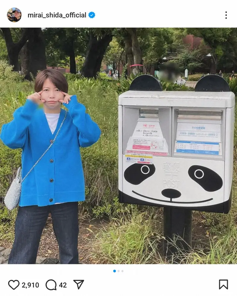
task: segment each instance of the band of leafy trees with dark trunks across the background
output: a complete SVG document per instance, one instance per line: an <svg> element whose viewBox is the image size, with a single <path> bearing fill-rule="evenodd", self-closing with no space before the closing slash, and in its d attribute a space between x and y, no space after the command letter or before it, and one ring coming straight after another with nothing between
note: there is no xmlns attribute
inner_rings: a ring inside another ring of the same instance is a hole
<svg viewBox="0 0 237 296"><path fill-rule="evenodd" d="M184 42L202 38L198 46ZM207 54L210 53L210 57ZM0 59L29 79L47 66L96 77L102 61L114 70L128 63L134 74L167 60L190 73L211 63L211 71L237 65L237 28L1 28ZM142 65L142 66L141 66Z"/></svg>

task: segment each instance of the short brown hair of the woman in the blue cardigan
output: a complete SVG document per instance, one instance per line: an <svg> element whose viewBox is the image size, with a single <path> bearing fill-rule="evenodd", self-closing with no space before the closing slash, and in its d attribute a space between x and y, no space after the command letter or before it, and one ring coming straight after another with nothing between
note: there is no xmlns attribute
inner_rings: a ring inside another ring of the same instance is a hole
<svg viewBox="0 0 237 296"><path fill-rule="evenodd" d="M65 76L58 70L45 69L40 71L35 78L35 91L42 91L44 81L49 78L50 81L61 91L68 92L68 83Z"/></svg>

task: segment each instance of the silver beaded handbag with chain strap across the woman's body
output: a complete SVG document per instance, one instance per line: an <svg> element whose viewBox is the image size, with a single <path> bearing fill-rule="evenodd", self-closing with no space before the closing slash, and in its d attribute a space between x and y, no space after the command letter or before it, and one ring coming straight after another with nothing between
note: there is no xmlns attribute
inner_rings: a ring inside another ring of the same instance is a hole
<svg viewBox="0 0 237 296"><path fill-rule="evenodd" d="M53 142L50 144L50 146L47 148L47 150L42 154L42 156L36 161L36 163L33 165L33 167L31 168L31 170L26 174L26 176L23 178L23 180L21 180L21 167L18 168L17 173L16 173L16 177L15 179L12 181L12 184L10 186L10 188L7 191L7 194L4 198L4 204L6 205L6 207L8 208L8 210L13 210L19 203L20 201L20 195L21 195L21 184L22 182L25 180L25 178L29 175L29 173L33 170L33 168L36 166L36 164L41 160L41 158L44 156L44 154L50 149L50 147L53 145L55 139L58 136L58 133L63 125L64 120L66 119L67 116L67 111L66 114L63 118L63 121L53 139Z"/></svg>

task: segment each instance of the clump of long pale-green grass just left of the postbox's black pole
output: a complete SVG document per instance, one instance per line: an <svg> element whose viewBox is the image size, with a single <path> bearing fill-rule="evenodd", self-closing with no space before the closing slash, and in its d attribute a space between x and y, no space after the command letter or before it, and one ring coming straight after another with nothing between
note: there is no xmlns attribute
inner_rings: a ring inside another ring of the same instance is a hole
<svg viewBox="0 0 237 296"><path fill-rule="evenodd" d="M154 230L152 213L133 210L122 214L95 235L90 257L93 262L107 264L160 263L163 259L158 248L162 237Z"/></svg>

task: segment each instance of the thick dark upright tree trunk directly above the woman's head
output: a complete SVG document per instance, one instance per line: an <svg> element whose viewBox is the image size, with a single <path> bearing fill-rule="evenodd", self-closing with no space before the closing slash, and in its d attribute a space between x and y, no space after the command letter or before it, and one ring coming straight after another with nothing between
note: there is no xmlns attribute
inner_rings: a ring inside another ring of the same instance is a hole
<svg viewBox="0 0 237 296"><path fill-rule="evenodd" d="M36 76L37 71L46 69L46 54L45 54L45 42L41 28L30 28L28 34L27 54L29 59L29 67L27 69L27 80L32 80ZM31 73L31 74L30 74Z"/></svg>

